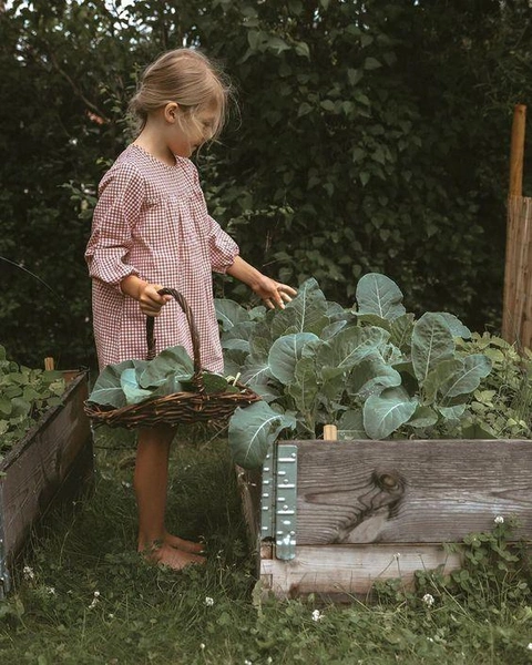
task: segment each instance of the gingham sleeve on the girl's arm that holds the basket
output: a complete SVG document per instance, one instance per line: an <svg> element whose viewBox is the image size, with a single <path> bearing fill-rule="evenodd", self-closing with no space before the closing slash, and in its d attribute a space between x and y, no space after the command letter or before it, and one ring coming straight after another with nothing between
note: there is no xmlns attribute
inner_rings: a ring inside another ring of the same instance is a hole
<svg viewBox="0 0 532 665"><path fill-rule="evenodd" d="M145 200L145 184L135 167L116 163L102 178L85 260L92 278L120 290L120 283L139 270L129 264L133 227Z"/></svg>

